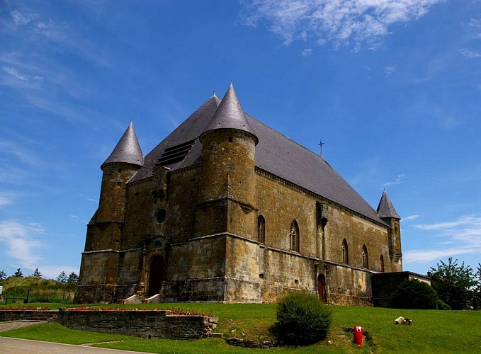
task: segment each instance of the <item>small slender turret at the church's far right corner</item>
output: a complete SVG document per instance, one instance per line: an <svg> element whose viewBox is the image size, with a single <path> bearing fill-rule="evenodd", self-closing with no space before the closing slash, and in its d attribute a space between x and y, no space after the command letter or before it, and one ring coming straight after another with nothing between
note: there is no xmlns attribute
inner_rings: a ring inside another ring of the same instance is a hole
<svg viewBox="0 0 481 354"><path fill-rule="evenodd" d="M397 270L395 271L402 271L401 217L397 214L386 190L383 190L383 196L376 212L380 219L389 226L389 256L392 262L397 263Z"/></svg>

